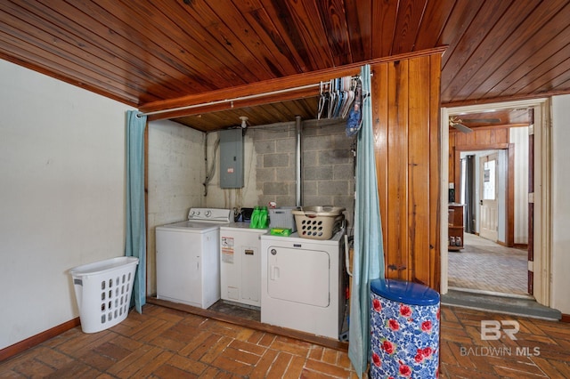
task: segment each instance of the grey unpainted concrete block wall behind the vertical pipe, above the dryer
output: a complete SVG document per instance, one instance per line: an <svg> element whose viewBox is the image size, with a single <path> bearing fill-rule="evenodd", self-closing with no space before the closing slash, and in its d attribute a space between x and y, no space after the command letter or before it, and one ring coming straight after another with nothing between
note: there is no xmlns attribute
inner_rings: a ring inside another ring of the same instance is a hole
<svg viewBox="0 0 570 379"><path fill-rule="evenodd" d="M343 206L349 228L354 214L354 138L344 120L302 122L303 206ZM256 151L258 205L296 206L295 122L251 128Z"/></svg>

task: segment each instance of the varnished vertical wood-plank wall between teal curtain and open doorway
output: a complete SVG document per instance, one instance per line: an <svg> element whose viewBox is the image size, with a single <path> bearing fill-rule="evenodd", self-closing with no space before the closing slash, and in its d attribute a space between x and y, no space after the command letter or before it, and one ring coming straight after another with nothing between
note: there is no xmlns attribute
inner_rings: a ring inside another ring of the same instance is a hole
<svg viewBox="0 0 570 379"><path fill-rule="evenodd" d="M439 290L441 55L371 69L386 277Z"/></svg>

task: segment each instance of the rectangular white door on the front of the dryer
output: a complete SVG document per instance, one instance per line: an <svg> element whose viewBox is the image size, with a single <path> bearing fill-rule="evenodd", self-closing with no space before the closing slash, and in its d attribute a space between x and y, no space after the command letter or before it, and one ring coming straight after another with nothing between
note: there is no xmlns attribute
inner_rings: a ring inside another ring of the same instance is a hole
<svg viewBox="0 0 570 379"><path fill-rule="evenodd" d="M269 246L267 294L318 307L330 304L330 256L318 250Z"/></svg>

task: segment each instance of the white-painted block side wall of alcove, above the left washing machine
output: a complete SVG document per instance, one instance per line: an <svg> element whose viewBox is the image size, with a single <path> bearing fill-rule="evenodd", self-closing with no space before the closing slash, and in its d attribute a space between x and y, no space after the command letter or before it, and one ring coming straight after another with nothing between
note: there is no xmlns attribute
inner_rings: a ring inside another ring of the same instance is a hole
<svg viewBox="0 0 570 379"><path fill-rule="evenodd" d="M205 133L162 120L149 123L147 293L156 294L155 228L188 218L205 206Z"/></svg>

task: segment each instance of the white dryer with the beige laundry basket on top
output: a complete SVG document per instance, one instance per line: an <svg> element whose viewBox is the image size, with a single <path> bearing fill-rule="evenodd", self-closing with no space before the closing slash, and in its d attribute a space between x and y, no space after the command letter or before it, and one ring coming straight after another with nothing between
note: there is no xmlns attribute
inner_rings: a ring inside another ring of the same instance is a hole
<svg viewBox="0 0 570 379"><path fill-rule="evenodd" d="M338 340L346 304L344 230L328 240L261 236L261 322Z"/></svg>

